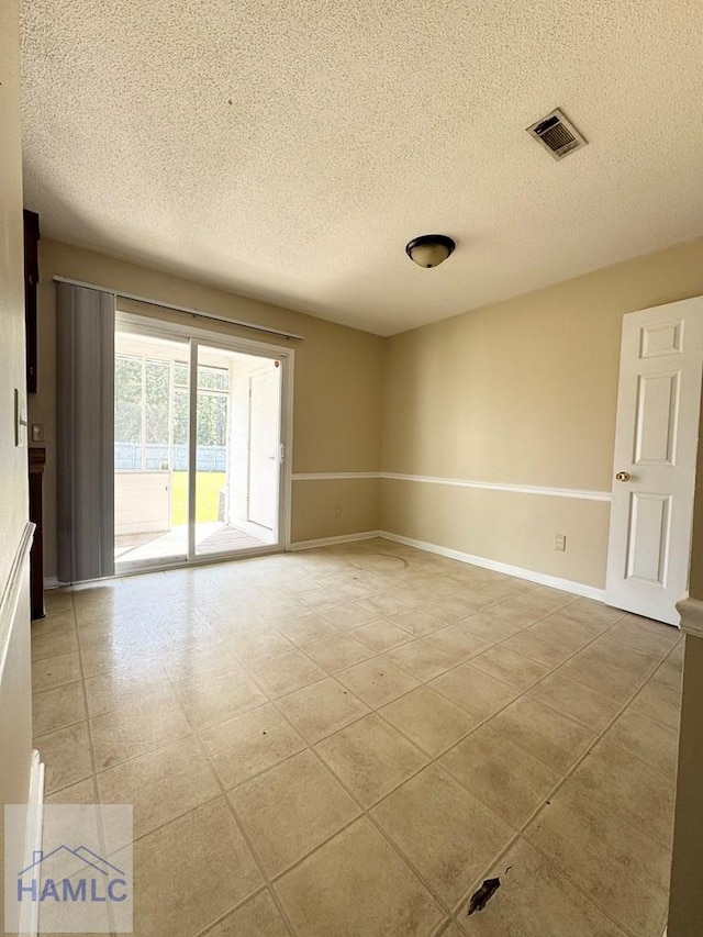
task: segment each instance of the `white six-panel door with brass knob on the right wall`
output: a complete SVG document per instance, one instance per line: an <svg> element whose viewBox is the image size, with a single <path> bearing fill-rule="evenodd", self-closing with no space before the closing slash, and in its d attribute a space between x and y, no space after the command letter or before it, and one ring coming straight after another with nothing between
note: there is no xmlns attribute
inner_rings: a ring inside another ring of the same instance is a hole
<svg viewBox="0 0 703 937"><path fill-rule="evenodd" d="M703 297L623 320L605 601L679 624L689 584Z"/></svg>

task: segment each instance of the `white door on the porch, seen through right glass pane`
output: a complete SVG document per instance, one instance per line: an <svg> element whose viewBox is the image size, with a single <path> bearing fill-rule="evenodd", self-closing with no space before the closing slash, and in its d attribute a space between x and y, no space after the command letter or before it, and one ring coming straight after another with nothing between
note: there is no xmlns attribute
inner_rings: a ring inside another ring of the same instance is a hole
<svg viewBox="0 0 703 937"><path fill-rule="evenodd" d="M278 518L280 371L252 375L249 521L272 531Z"/></svg>

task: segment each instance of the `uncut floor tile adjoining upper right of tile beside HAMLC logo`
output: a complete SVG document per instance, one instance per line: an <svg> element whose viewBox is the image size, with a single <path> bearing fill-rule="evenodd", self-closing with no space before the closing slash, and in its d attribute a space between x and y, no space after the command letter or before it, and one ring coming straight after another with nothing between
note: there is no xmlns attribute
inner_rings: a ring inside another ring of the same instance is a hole
<svg viewBox="0 0 703 937"><path fill-rule="evenodd" d="M228 797L269 875L280 874L359 814L312 751L277 765Z"/></svg>

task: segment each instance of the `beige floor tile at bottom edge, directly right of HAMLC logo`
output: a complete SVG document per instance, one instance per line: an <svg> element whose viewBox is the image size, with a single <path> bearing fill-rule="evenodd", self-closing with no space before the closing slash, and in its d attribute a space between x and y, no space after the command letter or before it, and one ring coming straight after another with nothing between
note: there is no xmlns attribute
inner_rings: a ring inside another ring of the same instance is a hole
<svg viewBox="0 0 703 937"><path fill-rule="evenodd" d="M192 937L264 883L224 797L137 840L134 880L144 937Z"/></svg>

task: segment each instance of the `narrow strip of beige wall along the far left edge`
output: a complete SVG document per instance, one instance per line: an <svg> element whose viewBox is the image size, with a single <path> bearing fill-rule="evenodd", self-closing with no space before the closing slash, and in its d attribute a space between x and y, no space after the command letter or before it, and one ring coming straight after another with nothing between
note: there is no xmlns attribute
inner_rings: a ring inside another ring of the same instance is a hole
<svg viewBox="0 0 703 937"><path fill-rule="evenodd" d="M26 444L14 445L14 389L24 406L24 277L20 146L20 14L0 3L0 797L27 802L32 750ZM22 868L24 830L0 823L0 855ZM3 890L0 890L0 893ZM0 895L0 919L4 895Z"/></svg>

